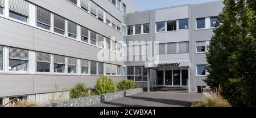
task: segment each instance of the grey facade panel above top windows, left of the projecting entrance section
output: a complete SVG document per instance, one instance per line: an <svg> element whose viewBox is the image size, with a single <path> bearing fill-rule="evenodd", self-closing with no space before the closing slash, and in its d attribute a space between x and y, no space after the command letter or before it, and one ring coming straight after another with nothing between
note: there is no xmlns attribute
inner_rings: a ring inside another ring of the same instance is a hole
<svg viewBox="0 0 256 118"><path fill-rule="evenodd" d="M137 25L150 23L150 12L139 12L126 15L126 25Z"/></svg>

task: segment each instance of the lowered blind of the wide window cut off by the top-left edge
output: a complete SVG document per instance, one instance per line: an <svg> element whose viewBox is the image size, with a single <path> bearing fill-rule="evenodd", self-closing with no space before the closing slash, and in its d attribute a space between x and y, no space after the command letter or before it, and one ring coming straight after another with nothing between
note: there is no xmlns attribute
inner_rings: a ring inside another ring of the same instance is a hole
<svg viewBox="0 0 256 118"><path fill-rule="evenodd" d="M24 0L9 0L9 9L18 14L29 16L29 3Z"/></svg>

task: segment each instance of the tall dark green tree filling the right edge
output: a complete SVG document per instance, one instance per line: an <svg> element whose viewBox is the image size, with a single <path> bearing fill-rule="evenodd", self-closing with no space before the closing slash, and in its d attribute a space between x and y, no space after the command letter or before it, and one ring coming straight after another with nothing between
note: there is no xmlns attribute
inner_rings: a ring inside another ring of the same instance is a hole
<svg viewBox="0 0 256 118"><path fill-rule="evenodd" d="M256 106L255 0L224 0L207 53L205 82L233 106Z"/></svg>

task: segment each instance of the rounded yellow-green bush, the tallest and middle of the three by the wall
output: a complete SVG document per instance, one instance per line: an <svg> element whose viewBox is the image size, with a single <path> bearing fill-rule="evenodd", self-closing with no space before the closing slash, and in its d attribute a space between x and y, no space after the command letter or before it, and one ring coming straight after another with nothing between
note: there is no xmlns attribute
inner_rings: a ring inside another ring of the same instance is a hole
<svg viewBox="0 0 256 118"><path fill-rule="evenodd" d="M115 86L114 81L112 78L108 76L102 76L98 78L96 85L95 85L95 93L97 95L105 94L105 93L114 93L117 91L117 86Z"/></svg>

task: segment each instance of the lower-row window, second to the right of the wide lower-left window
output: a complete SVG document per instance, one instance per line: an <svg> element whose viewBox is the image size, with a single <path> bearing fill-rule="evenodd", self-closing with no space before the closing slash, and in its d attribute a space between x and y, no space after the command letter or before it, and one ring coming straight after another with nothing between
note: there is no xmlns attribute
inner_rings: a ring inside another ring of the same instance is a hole
<svg viewBox="0 0 256 118"><path fill-rule="evenodd" d="M54 72L55 73L64 73L65 72L65 56L54 55Z"/></svg>

